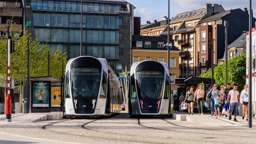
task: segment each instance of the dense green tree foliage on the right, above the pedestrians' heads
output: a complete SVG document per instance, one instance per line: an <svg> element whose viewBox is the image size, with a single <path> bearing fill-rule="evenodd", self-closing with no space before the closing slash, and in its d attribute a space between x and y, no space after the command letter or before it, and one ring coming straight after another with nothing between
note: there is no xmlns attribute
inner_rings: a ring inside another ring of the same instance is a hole
<svg viewBox="0 0 256 144"><path fill-rule="evenodd" d="M214 67L214 79L215 83L218 84L218 89L220 85L225 85L225 62L222 65ZM228 59L228 82L231 86L234 84L238 85L237 91L241 92L245 84L246 75L246 54L239 55L237 57ZM212 78L212 69L208 69L203 72L199 77Z"/></svg>

